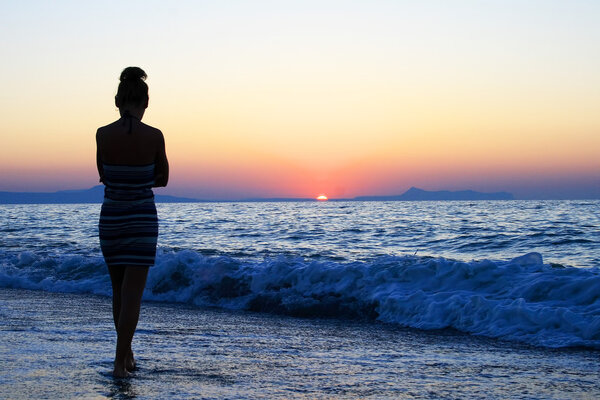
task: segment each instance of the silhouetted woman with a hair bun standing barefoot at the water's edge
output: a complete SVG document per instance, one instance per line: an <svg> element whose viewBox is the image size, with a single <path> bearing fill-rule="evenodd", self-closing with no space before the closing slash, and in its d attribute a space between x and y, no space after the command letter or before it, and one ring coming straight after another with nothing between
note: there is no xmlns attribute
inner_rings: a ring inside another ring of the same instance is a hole
<svg viewBox="0 0 600 400"><path fill-rule="evenodd" d="M100 247L113 289L116 377L135 368L131 341L158 236L152 187L166 186L169 179L163 134L141 121L148 107L145 79L140 68L123 70L115 96L121 118L96 133L96 162L105 185Z"/></svg>

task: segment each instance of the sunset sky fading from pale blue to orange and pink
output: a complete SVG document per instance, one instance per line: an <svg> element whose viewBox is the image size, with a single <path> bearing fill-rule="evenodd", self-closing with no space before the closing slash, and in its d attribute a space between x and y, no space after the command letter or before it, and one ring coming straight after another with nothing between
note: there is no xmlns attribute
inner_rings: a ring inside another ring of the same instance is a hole
<svg viewBox="0 0 600 400"><path fill-rule="evenodd" d="M159 193L600 198L600 1L0 4L0 191L98 184L135 65Z"/></svg>

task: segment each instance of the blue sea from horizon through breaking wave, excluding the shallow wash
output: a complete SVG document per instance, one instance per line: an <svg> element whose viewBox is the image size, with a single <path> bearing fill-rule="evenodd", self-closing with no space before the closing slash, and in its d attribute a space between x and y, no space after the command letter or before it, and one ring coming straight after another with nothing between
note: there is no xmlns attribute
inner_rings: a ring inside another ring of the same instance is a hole
<svg viewBox="0 0 600 400"><path fill-rule="evenodd" d="M1 205L0 287L109 296L100 205ZM600 349L600 201L159 204L146 300Z"/></svg>

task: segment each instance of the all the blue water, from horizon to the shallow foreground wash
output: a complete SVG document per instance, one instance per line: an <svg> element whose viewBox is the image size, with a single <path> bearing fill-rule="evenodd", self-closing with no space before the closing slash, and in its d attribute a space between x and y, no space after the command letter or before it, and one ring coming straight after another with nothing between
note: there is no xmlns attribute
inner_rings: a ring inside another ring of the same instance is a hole
<svg viewBox="0 0 600 400"><path fill-rule="evenodd" d="M0 205L0 398L600 398L600 200L157 209L115 380L100 204Z"/></svg>

